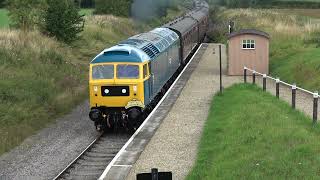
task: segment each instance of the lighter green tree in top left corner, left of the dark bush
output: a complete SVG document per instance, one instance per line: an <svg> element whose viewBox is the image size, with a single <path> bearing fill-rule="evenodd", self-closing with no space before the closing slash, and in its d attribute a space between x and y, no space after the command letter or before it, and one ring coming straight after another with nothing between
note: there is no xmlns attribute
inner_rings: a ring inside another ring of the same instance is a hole
<svg viewBox="0 0 320 180"><path fill-rule="evenodd" d="M45 0L7 0L6 4L11 26L23 31L34 29L46 9Z"/></svg>

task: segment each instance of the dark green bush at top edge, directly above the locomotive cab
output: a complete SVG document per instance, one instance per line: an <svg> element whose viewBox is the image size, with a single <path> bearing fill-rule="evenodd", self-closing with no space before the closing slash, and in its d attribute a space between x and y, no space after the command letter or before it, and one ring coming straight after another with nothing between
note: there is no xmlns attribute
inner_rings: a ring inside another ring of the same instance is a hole
<svg viewBox="0 0 320 180"><path fill-rule="evenodd" d="M96 0L96 14L113 14L128 17L132 0Z"/></svg>

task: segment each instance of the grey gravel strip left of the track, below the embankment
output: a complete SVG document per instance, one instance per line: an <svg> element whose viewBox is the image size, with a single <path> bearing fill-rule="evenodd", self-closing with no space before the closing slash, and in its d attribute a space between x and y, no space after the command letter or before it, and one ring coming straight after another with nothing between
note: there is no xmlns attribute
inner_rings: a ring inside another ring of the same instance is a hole
<svg viewBox="0 0 320 180"><path fill-rule="evenodd" d="M88 102L0 157L0 179L52 179L97 137Z"/></svg>

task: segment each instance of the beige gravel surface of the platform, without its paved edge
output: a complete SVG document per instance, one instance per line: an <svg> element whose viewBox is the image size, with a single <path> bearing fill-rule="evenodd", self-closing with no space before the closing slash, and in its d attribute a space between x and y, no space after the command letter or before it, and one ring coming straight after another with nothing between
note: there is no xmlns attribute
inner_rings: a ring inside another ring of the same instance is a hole
<svg viewBox="0 0 320 180"><path fill-rule="evenodd" d="M222 46L226 72L226 49ZM195 161L197 145L207 118L211 99L219 91L218 45L209 44L170 113L132 167L127 179L151 168L172 171L173 179L184 179ZM224 77L224 85L239 82L239 77Z"/></svg>

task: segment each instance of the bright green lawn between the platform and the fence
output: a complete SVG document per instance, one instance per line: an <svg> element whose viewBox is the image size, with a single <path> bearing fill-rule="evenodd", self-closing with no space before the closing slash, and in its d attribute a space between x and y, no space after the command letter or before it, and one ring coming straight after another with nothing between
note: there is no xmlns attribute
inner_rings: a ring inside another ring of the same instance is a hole
<svg viewBox="0 0 320 180"><path fill-rule="evenodd" d="M188 180L319 179L320 129L253 85L213 98Z"/></svg>

